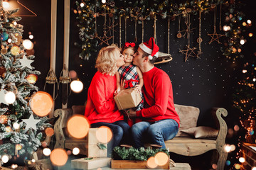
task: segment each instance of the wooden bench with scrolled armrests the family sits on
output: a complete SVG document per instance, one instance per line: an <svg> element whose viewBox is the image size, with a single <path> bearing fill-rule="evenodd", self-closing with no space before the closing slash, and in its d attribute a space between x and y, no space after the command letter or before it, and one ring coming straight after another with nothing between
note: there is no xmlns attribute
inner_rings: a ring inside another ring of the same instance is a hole
<svg viewBox="0 0 256 170"><path fill-rule="evenodd" d="M180 117L180 130L196 127L196 122L199 115L199 109L193 106L182 106L175 105L176 111ZM58 120L55 122L54 130L56 143L55 148L66 148L73 149L74 147L80 148L80 154L86 153L85 140L75 140L67 137L65 135L65 128L67 125L67 120L73 114L84 114L85 106L73 106L67 109L57 109L54 112L54 116ZM166 148L169 148L170 152L176 154L181 154L184 156L196 156L203 153L206 153L210 150L215 149L218 151L217 161L213 161L214 164L217 163L217 169L223 170L225 166L225 161L228 157L228 153L225 152L225 137L228 132L227 125L225 120L221 117L227 116L228 112L225 108L213 108L211 111L213 118L218 125L218 136L215 139L195 139L194 137L186 136L184 137L180 131L178 135L172 140L166 141ZM193 125L189 126L188 124L193 122Z"/></svg>

